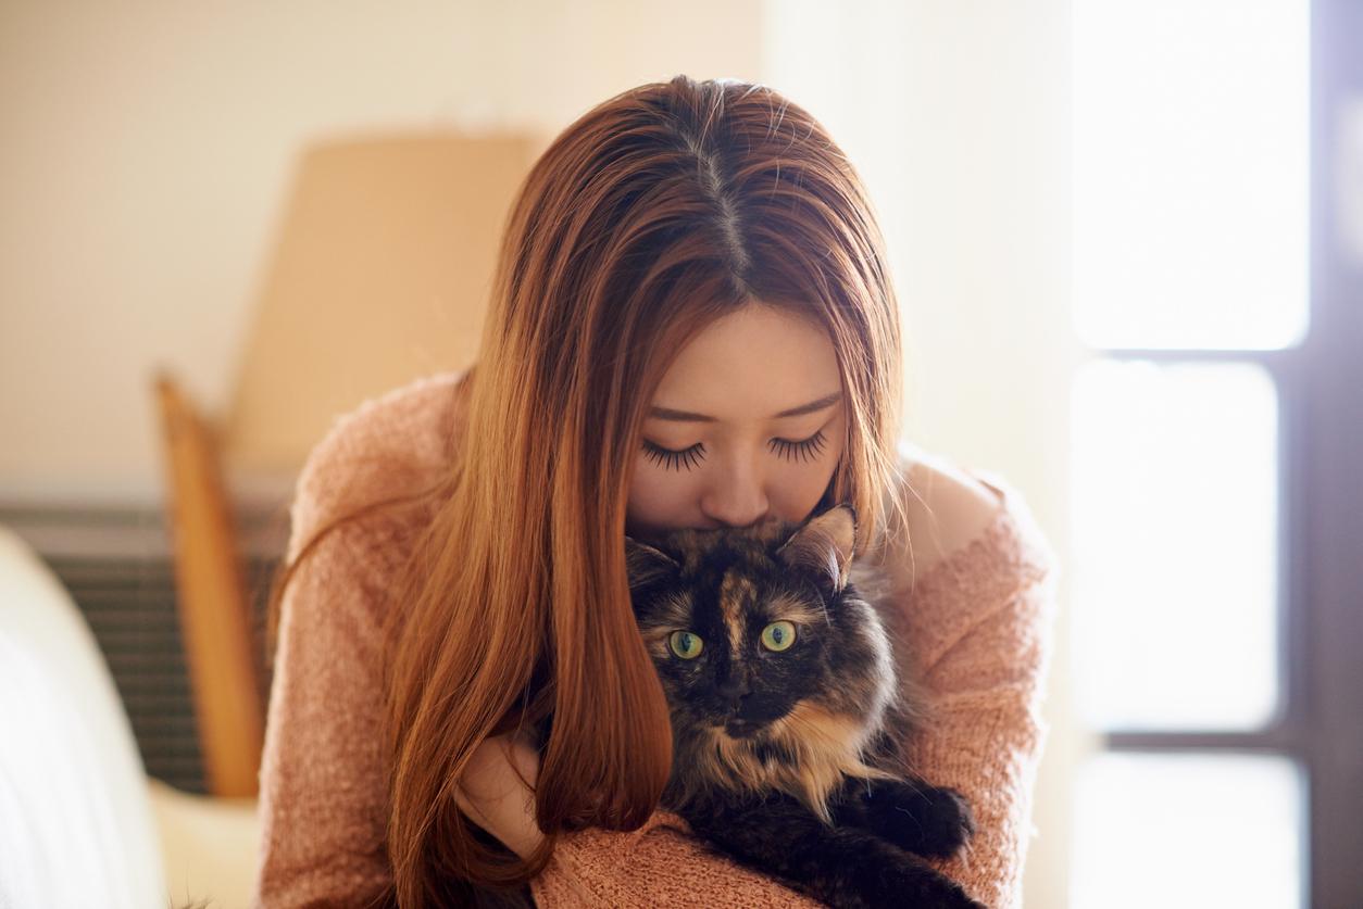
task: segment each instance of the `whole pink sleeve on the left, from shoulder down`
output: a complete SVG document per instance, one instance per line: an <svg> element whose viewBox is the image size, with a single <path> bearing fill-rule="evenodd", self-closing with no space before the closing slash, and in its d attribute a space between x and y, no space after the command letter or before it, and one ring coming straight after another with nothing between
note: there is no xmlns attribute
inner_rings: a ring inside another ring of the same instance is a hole
<svg viewBox="0 0 1363 909"><path fill-rule="evenodd" d="M298 476L290 563L337 518L439 474L463 375L413 382L334 421ZM260 758L256 909L365 906L390 887L382 623L414 526L391 512L345 523L285 589Z"/></svg>

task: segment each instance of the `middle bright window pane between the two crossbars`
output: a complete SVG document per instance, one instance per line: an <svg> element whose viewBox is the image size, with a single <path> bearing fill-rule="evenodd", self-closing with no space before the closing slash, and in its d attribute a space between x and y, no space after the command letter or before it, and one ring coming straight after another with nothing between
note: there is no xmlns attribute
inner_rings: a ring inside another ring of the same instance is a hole
<svg viewBox="0 0 1363 909"><path fill-rule="evenodd" d="M1074 658L1105 729L1244 729L1277 706L1277 402L1250 364L1075 371Z"/></svg>

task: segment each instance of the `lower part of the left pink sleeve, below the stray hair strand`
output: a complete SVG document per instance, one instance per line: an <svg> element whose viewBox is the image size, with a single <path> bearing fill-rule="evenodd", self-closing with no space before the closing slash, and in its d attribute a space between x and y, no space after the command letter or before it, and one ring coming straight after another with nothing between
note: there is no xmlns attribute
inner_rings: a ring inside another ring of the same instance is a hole
<svg viewBox="0 0 1363 909"><path fill-rule="evenodd" d="M363 906L391 879L379 572L367 533L346 526L324 538L282 602L254 906Z"/></svg>

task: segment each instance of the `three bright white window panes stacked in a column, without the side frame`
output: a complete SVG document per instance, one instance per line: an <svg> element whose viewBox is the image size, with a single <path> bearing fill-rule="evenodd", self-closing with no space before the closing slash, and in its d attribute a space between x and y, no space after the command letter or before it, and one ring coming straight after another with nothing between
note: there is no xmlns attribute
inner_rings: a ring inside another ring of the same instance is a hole
<svg viewBox="0 0 1363 909"><path fill-rule="evenodd" d="M1311 7L1070 8L1073 319L1097 352L1071 386L1073 653L1107 745L1074 792L1071 905L1300 906L1262 352L1308 331Z"/></svg>

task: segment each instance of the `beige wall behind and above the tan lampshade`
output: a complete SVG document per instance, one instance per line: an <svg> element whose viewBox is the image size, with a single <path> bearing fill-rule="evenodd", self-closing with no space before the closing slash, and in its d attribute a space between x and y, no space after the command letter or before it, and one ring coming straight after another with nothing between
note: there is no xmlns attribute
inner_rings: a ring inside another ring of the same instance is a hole
<svg viewBox="0 0 1363 909"><path fill-rule="evenodd" d="M304 143L759 70L756 3L399 5L0 4L0 502L161 500L150 371L226 405Z"/></svg>

